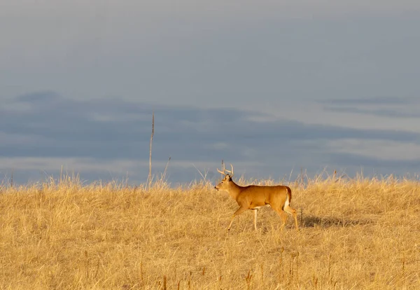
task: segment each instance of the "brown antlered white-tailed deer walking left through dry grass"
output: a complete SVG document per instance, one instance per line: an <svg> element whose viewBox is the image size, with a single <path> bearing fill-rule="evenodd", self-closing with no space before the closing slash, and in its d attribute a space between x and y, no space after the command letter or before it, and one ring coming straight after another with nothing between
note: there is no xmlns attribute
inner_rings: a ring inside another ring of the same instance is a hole
<svg viewBox="0 0 420 290"><path fill-rule="evenodd" d="M232 180L233 177L233 165L230 165L231 170L226 170L225 165L222 165L222 170L217 170L219 173L224 174L225 178L214 188L218 191L228 191L229 195L237 201L239 209L233 214L228 230L232 226L233 219L238 214L245 212L247 209L253 209L254 211L254 228L257 230L257 212L261 207L272 207L276 211L283 223L281 224L281 230L287 220L287 214L291 214L295 219L296 230L299 230L297 226L296 210L290 207L290 200L292 199L292 191L288 186L239 186Z"/></svg>

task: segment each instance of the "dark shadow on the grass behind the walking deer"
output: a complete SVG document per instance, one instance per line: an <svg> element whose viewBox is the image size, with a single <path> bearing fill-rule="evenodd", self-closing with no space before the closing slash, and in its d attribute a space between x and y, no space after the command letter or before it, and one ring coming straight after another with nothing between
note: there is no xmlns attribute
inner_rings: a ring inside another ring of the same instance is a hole
<svg viewBox="0 0 420 290"><path fill-rule="evenodd" d="M346 219L336 217L320 217L320 216L303 216L300 219L299 226L302 228L314 228L319 226L321 228L330 228L332 226L347 227L347 226L363 226L372 223L369 219Z"/></svg>

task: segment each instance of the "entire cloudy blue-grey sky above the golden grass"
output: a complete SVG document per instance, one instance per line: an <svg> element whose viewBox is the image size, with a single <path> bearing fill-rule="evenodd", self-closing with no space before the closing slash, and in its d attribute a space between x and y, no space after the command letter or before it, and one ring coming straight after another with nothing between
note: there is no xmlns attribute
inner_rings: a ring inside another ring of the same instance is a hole
<svg viewBox="0 0 420 290"><path fill-rule="evenodd" d="M419 1L0 2L0 180L420 171ZM168 160L169 157L171 160Z"/></svg>

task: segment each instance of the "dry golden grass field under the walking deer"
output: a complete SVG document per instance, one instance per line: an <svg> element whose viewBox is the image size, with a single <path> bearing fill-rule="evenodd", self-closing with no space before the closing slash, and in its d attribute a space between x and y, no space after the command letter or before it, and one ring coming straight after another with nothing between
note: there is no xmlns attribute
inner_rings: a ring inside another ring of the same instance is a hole
<svg viewBox="0 0 420 290"><path fill-rule="evenodd" d="M5 185L0 288L420 289L418 181L299 182L283 233L268 207L228 233L237 204L206 182Z"/></svg>

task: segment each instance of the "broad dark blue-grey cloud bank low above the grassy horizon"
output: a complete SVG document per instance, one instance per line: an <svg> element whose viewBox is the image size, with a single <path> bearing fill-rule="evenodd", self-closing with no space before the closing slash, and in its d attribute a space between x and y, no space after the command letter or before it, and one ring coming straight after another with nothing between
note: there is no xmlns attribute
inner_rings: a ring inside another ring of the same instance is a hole
<svg viewBox="0 0 420 290"><path fill-rule="evenodd" d="M144 181L153 111L153 169L162 172L171 156L172 180L197 177L194 165L214 177L222 158L253 177L273 172L281 176L293 167L316 172L328 165L353 166L353 157L343 157L349 154L363 157L356 159L360 165L377 165L393 156L403 171L412 160L402 158L398 150L416 156L420 140L415 132L307 125L258 111L74 100L54 92L35 92L16 97L0 109L0 137L5 140L0 144L0 171L10 167L59 170L64 165L91 179L124 177L128 171L135 180ZM360 151L348 140L370 141ZM395 144L400 144L399 149L391 150ZM376 150L379 147L382 151Z"/></svg>

